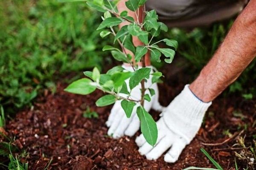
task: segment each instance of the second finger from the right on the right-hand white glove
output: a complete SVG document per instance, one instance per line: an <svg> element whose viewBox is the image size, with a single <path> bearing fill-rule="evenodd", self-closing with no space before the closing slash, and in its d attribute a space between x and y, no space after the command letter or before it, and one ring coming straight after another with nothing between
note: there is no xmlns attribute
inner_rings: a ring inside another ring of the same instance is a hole
<svg viewBox="0 0 256 170"><path fill-rule="evenodd" d="M150 152L146 154L146 158L148 160L158 159L169 147L172 146L172 142L172 136L165 136Z"/></svg>

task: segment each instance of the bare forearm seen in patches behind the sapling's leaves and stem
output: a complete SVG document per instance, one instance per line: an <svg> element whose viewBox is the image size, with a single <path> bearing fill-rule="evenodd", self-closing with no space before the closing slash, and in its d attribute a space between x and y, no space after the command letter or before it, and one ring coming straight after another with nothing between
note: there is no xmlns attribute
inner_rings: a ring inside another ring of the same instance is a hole
<svg viewBox="0 0 256 170"><path fill-rule="evenodd" d="M117 4L118 11L119 12L120 11L128 11L128 16L131 16L134 18L135 21L139 21L140 23L142 23L143 19L144 19L143 8L139 8L138 11L135 11L135 12L131 11L125 6L126 1L128 1L128 0L119 0L119 2ZM123 23L119 24L119 28L122 28L122 26L125 26L128 24L129 24L128 22L123 22ZM132 41L133 41L135 47L137 47L139 45L143 45L143 42L141 42L138 37L133 36ZM133 58L134 58L134 55L132 54L131 51L129 51L128 49L125 49L125 52L127 54L131 54L131 56L133 56ZM141 63L138 63L138 64L141 65ZM149 57L148 53L145 56L145 65L147 65L147 66L150 65L150 57Z"/></svg>

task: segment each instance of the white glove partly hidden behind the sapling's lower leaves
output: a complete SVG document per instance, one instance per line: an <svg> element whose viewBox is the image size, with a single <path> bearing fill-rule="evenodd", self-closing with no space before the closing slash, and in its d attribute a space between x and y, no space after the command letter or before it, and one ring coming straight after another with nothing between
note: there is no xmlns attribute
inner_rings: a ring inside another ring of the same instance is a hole
<svg viewBox="0 0 256 170"><path fill-rule="evenodd" d="M127 71L133 71L131 66L122 65L122 67L125 68L125 70ZM149 68L152 68L152 66L149 66ZM151 70L151 73L153 73L152 70ZM159 92L158 92L157 84L156 83L152 84L151 78L152 76L150 75L147 82L145 82L145 88L154 89L155 95L151 96L150 102L148 101L144 102L144 108L146 111L149 111L151 108L157 111L162 111L163 107L158 102ZM127 79L125 82L127 84L128 91L130 91L129 79ZM140 100L141 98L140 88L141 88L141 85L139 84L138 86L132 89L130 99ZM149 94L149 91L146 90L145 94ZM120 94L120 96L127 97L128 95ZM108 121L106 122L107 127L110 127L108 129L108 135L109 136L112 135L114 139L117 139L124 135L133 136L140 129L140 119L136 114L136 109L138 106L139 104L137 103L134 106L134 109L131 113L131 117L127 118L124 110L122 109L121 101L120 100L116 101L116 103L113 105L113 108L111 109L110 115L108 117Z"/></svg>

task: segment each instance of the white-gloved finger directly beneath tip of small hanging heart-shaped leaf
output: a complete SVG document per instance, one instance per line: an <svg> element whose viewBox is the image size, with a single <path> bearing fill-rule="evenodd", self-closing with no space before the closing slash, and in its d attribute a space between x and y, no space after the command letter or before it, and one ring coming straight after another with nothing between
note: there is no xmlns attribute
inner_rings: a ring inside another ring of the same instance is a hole
<svg viewBox="0 0 256 170"><path fill-rule="evenodd" d="M124 136L124 133L125 133L125 130L126 128L129 126L129 124L131 123L133 117L135 116L135 114L133 113L132 114L132 117L130 118L127 118L125 116L125 113L123 112L123 117L122 117L122 120L121 122L119 123L119 126L116 128L115 132L113 133L113 138L114 139L117 139L121 136Z"/></svg>

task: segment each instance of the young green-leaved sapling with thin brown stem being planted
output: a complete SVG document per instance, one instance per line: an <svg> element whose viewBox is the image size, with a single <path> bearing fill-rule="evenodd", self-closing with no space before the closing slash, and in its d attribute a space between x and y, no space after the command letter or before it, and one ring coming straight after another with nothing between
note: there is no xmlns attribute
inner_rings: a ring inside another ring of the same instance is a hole
<svg viewBox="0 0 256 170"><path fill-rule="evenodd" d="M145 88L145 82L149 81L149 77L151 77L151 83L157 83L159 78L162 77L162 73L153 68L145 67L145 54L150 52L151 58L154 58L157 62L161 62L160 57L163 54L165 56L164 61L171 63L178 43L176 40L169 39L154 41L154 38L159 36L160 31L168 31L168 28L164 23L158 22L155 10L145 11L145 1L128 0L125 2L126 7L135 12L135 19L128 16L128 11L118 11L116 7L117 0L87 1L88 6L104 12L103 21L97 28L97 30L102 30L100 36L103 38L112 35L114 37L113 44L117 43L120 46L120 48L116 48L106 45L102 50L111 51L114 59L130 64L133 71L115 66L108 70L106 74L101 74L98 68L95 67L93 71L84 72L84 75L88 78L82 78L71 83L65 91L87 95L99 89L105 92L106 95L99 98L96 105L102 107L121 100L122 109L128 118L132 111L136 109L143 136L148 144L154 146L157 141L157 125L145 110L144 101L150 101L155 92L150 87ZM143 15L145 15L141 23L139 21L139 8L143 9ZM115 27L122 22L127 23L127 25L116 31ZM132 37L137 37L144 45L135 47ZM160 48L158 46L159 42L165 42L170 48ZM131 51L134 57L128 54L125 49ZM142 63L141 67L137 64L139 62ZM141 98L133 99L130 95L131 91L139 84L141 84ZM146 94L146 92L148 93ZM122 94L126 94L125 97Z"/></svg>

